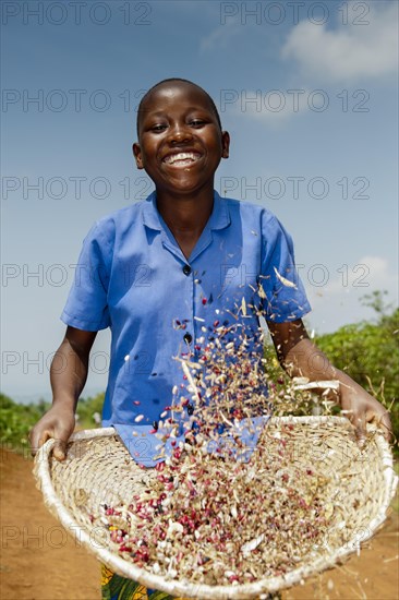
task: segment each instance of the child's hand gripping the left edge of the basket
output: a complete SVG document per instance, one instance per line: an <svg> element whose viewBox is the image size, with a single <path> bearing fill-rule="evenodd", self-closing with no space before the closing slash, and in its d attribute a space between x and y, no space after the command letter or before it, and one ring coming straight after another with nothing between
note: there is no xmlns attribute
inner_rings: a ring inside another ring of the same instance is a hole
<svg viewBox="0 0 399 600"><path fill-rule="evenodd" d="M29 432L31 452L35 456L47 440L56 440L52 454L57 460L64 460L66 443L75 428L75 415L70 409L52 406Z"/></svg>

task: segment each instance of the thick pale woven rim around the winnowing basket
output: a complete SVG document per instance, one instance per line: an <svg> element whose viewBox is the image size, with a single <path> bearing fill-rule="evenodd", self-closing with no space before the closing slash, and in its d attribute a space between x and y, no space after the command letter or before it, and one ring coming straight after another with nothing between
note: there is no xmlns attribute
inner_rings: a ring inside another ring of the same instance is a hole
<svg viewBox="0 0 399 600"><path fill-rule="evenodd" d="M341 425L343 429L353 430L350 421L344 417L328 417L328 416L287 416L287 417L273 417L271 422L279 422L282 424L309 424L317 427L322 423L330 423ZM371 432L378 432L375 425L367 425L367 430ZM112 428L98 428L92 430L83 430L72 434L69 443L89 441L101 437L119 437L118 432ZM267 577L252 581L250 584L228 585L228 586L210 586L207 584L193 584L184 579L167 579L164 576L156 575L137 567L134 563L128 562L122 556L119 556L108 550L108 548L98 544L97 539L93 539L92 533L87 529L81 526L74 518L73 514L64 506L61 500L58 497L51 481L50 475L50 456L55 445L55 440L48 440L38 451L35 458L35 477L38 485L44 494L45 504L48 509L60 520L61 525L72 536L75 536L80 543L94 554L99 561L107 564L111 569L116 571L123 577L140 581L142 585L149 588L161 589L167 593L174 596L189 596L191 598L204 598L215 600L243 600L244 598L255 598L265 592L274 592L279 589L285 589L299 584L301 579L317 574L321 571L334 567L334 565L349 556L350 554L360 551L362 543L366 542L375 531L382 526L386 519L386 512L389 507L390 501L395 495L395 491L398 484L398 477L394 470L394 459L390 452L388 442L382 434L375 435L375 442L380 456L380 464L384 469L384 500L379 507L378 515L374 517L367 528L363 530L361 539L353 537L343 547L338 548L329 555L323 555L315 557L311 565L302 565L298 568L290 571L286 575L279 575L275 577ZM132 460L134 460L132 458Z"/></svg>

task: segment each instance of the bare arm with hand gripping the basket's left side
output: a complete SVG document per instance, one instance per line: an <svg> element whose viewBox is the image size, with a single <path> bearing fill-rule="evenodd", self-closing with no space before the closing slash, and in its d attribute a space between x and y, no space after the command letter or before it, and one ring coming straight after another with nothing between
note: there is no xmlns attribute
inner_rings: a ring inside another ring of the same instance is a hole
<svg viewBox="0 0 399 600"><path fill-rule="evenodd" d="M50 368L52 406L29 434L32 453L36 454L47 440L53 437L53 455L65 458L66 442L75 427L75 409L86 383L88 357L97 332L68 327Z"/></svg>

